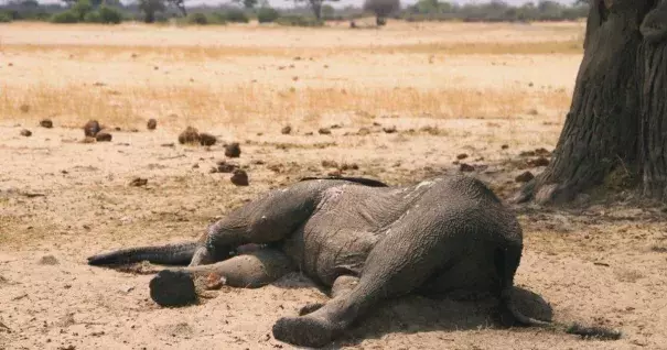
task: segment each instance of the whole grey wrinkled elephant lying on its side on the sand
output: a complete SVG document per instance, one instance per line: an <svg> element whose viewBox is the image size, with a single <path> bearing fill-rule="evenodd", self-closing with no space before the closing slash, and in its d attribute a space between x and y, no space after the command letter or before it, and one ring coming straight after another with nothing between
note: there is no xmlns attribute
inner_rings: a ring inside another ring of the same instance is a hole
<svg viewBox="0 0 667 350"><path fill-rule="evenodd" d="M160 305L194 299L191 281L197 274L214 272L228 285L257 287L298 269L331 286L333 298L304 307L302 316L279 319L273 336L318 347L383 299L408 293L491 294L499 297L503 315L541 325L512 303L521 238L515 216L471 177L434 177L406 187L309 179L232 211L200 242L128 249L88 260L93 265L190 260L189 267L162 271L151 281L151 297ZM248 243L266 245L229 258Z"/></svg>

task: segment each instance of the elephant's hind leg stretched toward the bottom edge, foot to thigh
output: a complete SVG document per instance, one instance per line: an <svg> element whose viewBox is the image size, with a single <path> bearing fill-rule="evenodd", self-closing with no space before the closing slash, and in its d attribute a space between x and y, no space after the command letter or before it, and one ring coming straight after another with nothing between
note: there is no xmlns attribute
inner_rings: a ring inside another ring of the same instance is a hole
<svg viewBox="0 0 667 350"><path fill-rule="evenodd" d="M465 247L445 244L447 237L417 222L433 222L423 214L406 217L370 251L358 284L320 309L300 317L284 317L273 326L276 339L297 346L321 347L379 302L407 294ZM455 243L455 242L454 242ZM449 245L449 248L448 248Z"/></svg>

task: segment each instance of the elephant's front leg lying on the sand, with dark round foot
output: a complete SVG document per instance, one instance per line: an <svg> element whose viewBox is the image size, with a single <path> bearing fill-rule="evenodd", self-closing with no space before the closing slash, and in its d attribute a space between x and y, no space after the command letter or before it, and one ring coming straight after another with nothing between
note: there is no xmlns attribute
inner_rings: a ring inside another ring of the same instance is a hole
<svg viewBox="0 0 667 350"><path fill-rule="evenodd" d="M261 249L215 264L163 270L151 280L150 295L161 306L183 306L196 302L197 278L213 276L232 287L257 288L291 271L293 267L284 253Z"/></svg>

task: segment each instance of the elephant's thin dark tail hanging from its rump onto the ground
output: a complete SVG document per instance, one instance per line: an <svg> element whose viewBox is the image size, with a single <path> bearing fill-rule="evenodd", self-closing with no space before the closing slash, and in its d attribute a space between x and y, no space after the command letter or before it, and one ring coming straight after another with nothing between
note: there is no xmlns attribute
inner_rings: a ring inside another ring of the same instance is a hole
<svg viewBox="0 0 667 350"><path fill-rule="evenodd" d="M498 249L495 256L495 265L501 277L501 315L510 316L514 322L523 326L549 326L551 322L528 317L516 307L512 298L514 289L514 274L521 260L523 245L510 244L504 249Z"/></svg>

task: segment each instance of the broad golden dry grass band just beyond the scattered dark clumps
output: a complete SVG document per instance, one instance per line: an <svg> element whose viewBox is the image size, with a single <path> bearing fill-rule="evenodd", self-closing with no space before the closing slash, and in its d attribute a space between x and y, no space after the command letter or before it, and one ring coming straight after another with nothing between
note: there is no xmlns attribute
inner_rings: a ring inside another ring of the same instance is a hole
<svg viewBox="0 0 667 350"><path fill-rule="evenodd" d="M49 116L64 127L79 127L84 120L98 119L126 128L159 118L162 125L182 128L186 124L244 124L250 120L316 123L326 116L354 113L512 119L526 113L532 105L562 110L568 103L569 95L564 91L525 94L519 89L280 89L261 85L111 89L39 85L22 90L8 89L8 94L0 97L0 118L37 120Z"/></svg>

